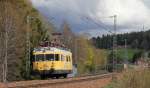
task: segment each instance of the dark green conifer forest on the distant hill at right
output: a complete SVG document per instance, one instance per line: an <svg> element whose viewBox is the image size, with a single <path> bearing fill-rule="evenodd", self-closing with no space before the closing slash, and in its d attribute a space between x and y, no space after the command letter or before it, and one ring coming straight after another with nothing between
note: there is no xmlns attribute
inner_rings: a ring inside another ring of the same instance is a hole
<svg viewBox="0 0 150 88"><path fill-rule="evenodd" d="M118 47L125 45L125 39L127 46L137 49L150 49L150 30L141 32L132 32L117 35ZM97 48L109 49L112 48L112 35L103 35L102 37L93 37L92 41Z"/></svg>

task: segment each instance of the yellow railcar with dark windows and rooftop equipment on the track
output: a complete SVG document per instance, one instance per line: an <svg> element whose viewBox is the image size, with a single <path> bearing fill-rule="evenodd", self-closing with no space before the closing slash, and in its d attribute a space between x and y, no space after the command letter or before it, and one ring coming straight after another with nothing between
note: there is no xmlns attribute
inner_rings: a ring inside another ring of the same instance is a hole
<svg viewBox="0 0 150 88"><path fill-rule="evenodd" d="M59 78L72 72L72 53L69 50L42 47L33 51L32 67L34 73Z"/></svg>

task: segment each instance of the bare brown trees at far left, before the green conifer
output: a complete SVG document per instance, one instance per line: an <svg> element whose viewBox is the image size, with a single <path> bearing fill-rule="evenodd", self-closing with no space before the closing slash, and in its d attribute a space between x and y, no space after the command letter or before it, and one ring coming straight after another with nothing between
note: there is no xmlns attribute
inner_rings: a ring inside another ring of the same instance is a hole
<svg viewBox="0 0 150 88"><path fill-rule="evenodd" d="M14 0L0 0L0 80L19 80L19 61L23 43L24 23L18 14ZM3 67L3 68L2 68ZM17 79L18 78L18 79Z"/></svg>

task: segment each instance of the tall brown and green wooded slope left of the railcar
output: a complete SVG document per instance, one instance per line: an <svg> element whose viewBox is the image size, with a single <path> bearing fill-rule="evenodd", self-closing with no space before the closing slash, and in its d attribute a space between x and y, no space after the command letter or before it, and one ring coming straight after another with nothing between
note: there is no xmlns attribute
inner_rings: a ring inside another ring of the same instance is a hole
<svg viewBox="0 0 150 88"><path fill-rule="evenodd" d="M41 40L48 38L48 28L27 0L0 0L0 80L4 77L3 68L7 69L7 80L25 78L25 51L27 29L30 31L31 48ZM27 25L27 16L36 17ZM28 27L29 26L29 27ZM7 51L7 52L6 52ZM7 65L5 58L7 57Z"/></svg>

